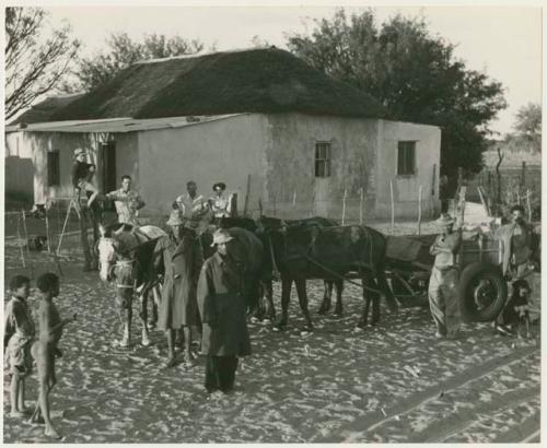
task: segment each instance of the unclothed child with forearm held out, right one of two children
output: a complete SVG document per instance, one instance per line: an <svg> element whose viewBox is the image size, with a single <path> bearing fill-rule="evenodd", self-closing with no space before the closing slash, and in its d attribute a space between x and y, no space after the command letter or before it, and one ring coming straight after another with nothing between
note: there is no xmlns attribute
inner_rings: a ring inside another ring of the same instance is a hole
<svg viewBox="0 0 547 448"><path fill-rule="evenodd" d="M62 335L62 328L75 320L77 315L70 319L61 320L59 311L53 299L59 295L59 278L53 273L45 273L36 281L38 287L39 305L39 338L32 346L32 355L38 369L39 394L38 405L31 418L33 423L46 424L45 435L60 438L59 433L51 424L49 416L49 392L57 384L55 376L55 357L60 356L57 344ZM39 416L42 411L43 420Z"/></svg>

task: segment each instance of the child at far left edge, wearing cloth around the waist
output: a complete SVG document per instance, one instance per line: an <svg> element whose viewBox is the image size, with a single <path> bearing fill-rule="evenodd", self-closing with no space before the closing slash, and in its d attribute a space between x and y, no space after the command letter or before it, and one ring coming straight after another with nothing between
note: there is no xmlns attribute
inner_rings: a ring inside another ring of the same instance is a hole
<svg viewBox="0 0 547 448"><path fill-rule="evenodd" d="M35 334L34 321L26 303L31 281L15 275L10 282L11 300L5 308L3 346L11 376L10 400L12 417L25 413L25 377L32 370L31 345Z"/></svg>

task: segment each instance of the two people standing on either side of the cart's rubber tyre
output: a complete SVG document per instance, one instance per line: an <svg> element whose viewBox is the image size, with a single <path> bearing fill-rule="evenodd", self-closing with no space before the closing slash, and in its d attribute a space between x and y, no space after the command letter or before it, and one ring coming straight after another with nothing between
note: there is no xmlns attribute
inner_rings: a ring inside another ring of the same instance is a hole
<svg viewBox="0 0 547 448"><path fill-rule="evenodd" d="M524 280L533 272L533 228L524 220L524 209L513 205L510 210L512 222L500 226L493 236L502 241L502 274L512 282L512 297L493 321L500 334L513 334L517 321L526 313L531 294L529 284ZM430 247L435 257L429 281L429 305L435 325L435 337L453 340L458 338L461 308L457 291L458 267L456 255L462 245L462 228L454 228L455 220L443 213L435 224L440 235Z"/></svg>

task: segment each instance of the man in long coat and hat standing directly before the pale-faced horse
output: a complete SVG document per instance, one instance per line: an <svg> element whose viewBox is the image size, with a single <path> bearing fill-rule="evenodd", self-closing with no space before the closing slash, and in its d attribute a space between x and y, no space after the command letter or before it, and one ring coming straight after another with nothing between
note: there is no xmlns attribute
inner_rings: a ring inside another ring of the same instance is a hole
<svg viewBox="0 0 547 448"><path fill-rule="evenodd" d="M162 237L155 247L165 267L158 327L165 331L167 338L166 367L176 363L174 340L175 330L179 329L184 331L185 364L188 367L191 365L191 327L199 325L196 286L202 255L194 232L184 228L183 223L181 212L174 210L167 221L172 232Z"/></svg>

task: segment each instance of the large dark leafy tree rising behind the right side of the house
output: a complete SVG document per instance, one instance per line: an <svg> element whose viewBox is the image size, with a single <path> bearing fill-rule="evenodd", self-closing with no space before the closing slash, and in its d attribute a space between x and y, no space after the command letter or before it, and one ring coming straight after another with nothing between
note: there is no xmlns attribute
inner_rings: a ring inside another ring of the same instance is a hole
<svg viewBox="0 0 547 448"><path fill-rule="evenodd" d="M287 40L312 67L381 101L386 118L440 126L442 174L480 170L488 122L507 107L502 85L467 69L423 19L396 15L379 26L372 10L348 19L340 9Z"/></svg>

